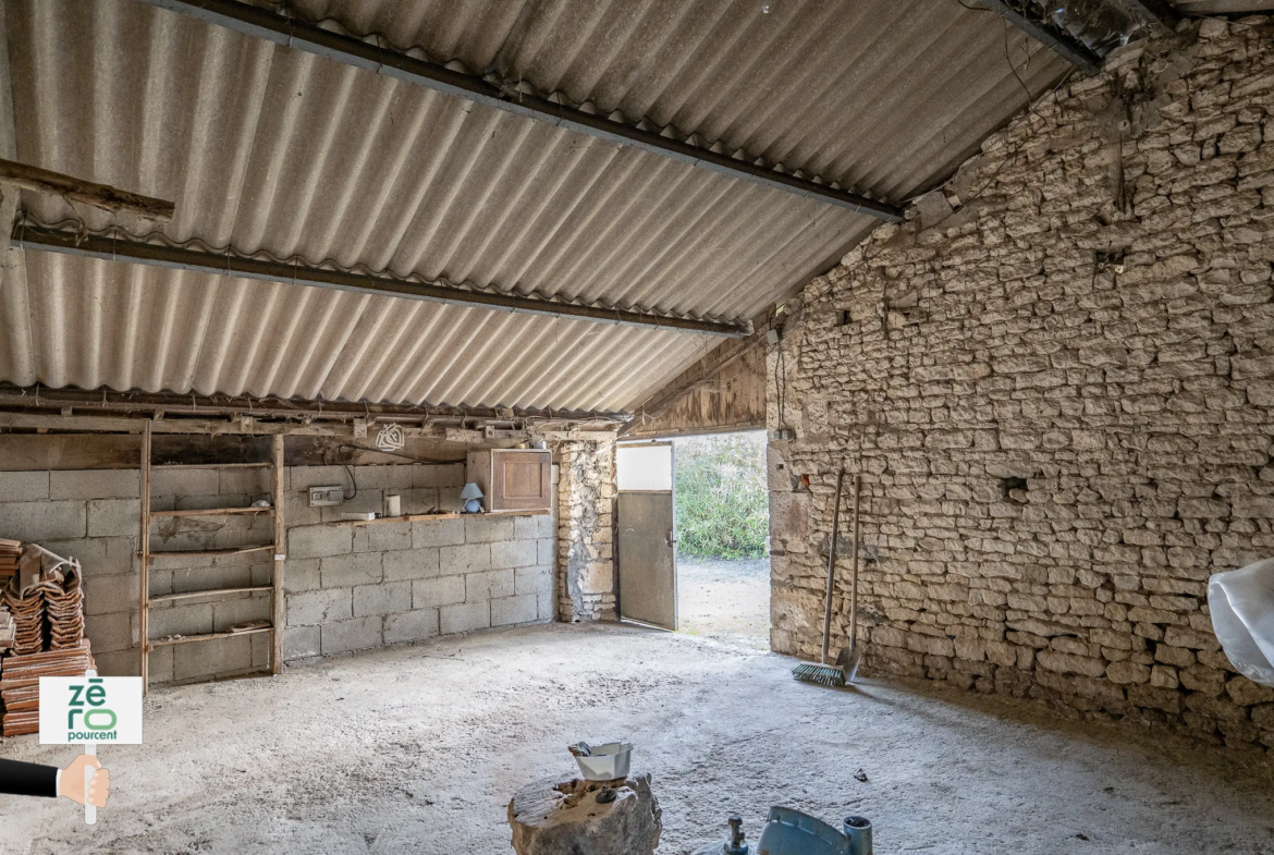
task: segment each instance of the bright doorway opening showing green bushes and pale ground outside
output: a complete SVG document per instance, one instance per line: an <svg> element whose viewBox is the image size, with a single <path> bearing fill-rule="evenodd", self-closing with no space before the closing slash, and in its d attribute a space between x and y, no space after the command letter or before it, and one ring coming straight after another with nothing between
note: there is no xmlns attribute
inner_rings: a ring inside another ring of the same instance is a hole
<svg viewBox="0 0 1274 855"><path fill-rule="evenodd" d="M678 629L769 650L766 432L673 443Z"/></svg>

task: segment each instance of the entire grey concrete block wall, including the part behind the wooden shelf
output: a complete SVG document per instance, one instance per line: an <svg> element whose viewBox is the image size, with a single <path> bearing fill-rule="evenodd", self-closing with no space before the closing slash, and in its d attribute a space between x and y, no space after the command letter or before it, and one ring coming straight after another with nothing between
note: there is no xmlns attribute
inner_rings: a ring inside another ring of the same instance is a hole
<svg viewBox="0 0 1274 855"><path fill-rule="evenodd" d="M3 461L0 461L3 465ZM340 484L341 506L311 508L310 487ZM404 514L456 510L464 465L289 466L285 471L285 660L513 626L553 617L557 515L368 526L327 525L344 511L380 510L403 497ZM103 674L138 670L138 470L0 471L0 536L37 542L84 566L87 631ZM266 469L152 470L152 508L241 507L269 497ZM150 530L155 552L270 543L269 516L168 517ZM268 585L269 553L158 558L150 594ZM222 632L268 619L265 593L177 600L150 610L150 636ZM257 670L269 636L159 647L154 682Z"/></svg>

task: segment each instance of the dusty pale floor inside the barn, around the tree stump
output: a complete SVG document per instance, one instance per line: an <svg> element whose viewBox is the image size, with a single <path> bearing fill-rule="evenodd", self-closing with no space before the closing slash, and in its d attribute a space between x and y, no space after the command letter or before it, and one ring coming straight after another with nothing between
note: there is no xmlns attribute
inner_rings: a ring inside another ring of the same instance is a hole
<svg viewBox="0 0 1274 855"><path fill-rule="evenodd" d="M98 826L65 799L0 796L0 850L507 852L519 786L569 771L569 742L627 736L654 772L661 854L720 838L734 810L755 835L775 803L865 814L882 855L1274 852L1266 766L941 688L810 687L791 665L685 635L543 626L159 688L148 744L102 748L113 794Z"/></svg>

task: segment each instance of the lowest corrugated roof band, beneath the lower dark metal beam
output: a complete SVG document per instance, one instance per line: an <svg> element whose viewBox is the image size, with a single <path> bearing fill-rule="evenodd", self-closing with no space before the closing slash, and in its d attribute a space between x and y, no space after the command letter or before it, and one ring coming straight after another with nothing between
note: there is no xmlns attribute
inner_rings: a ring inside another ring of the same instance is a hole
<svg viewBox="0 0 1274 855"><path fill-rule="evenodd" d="M310 400L618 410L717 339L13 251L0 376ZM15 275L13 275L15 274ZM92 384L92 385L90 385Z"/></svg>

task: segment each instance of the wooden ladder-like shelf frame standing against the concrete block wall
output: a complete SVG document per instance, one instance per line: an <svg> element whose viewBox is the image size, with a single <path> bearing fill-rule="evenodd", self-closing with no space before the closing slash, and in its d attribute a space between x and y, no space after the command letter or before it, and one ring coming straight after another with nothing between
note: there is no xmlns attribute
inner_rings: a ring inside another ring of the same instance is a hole
<svg viewBox="0 0 1274 855"><path fill-rule="evenodd" d="M283 626L284 626L284 599L283 599L283 564L287 553L287 530L283 526L283 437L273 437L274 443L270 454L270 463L257 463L257 464L191 464L189 466L182 466L183 469L209 469L217 468L269 468L270 470L270 503L273 507L213 507L213 508L200 508L189 511L152 511L150 510L150 423L145 424L141 432L141 584L140 584L140 621L139 621L139 637L140 637L140 672L141 672L141 686L145 691L150 689L150 652L155 647L167 647L171 645L190 643L195 641L211 641L214 638L234 638L238 636L250 636L259 632L270 633L270 674L279 674L283 672ZM150 524L157 519L163 517L186 517L186 516L231 516L231 515L269 515L274 517L274 542L269 544L262 544L259 547L238 547L229 549L185 549L173 552L152 552L150 550ZM155 559L162 559L167 556L182 556L186 558L199 557L199 556L241 556L254 552L271 552L274 553L273 572L269 585L255 585L251 587L222 587L222 589L208 589L203 591L182 591L180 594L164 594L161 596L150 596L150 563ZM185 600L192 598L215 598L215 596L229 596L237 594L256 594L256 593L269 593L270 594L270 626L255 629L247 629L243 632L213 632L197 636L178 636L175 638L152 638L150 637L150 604L152 603L169 603L173 600Z"/></svg>

